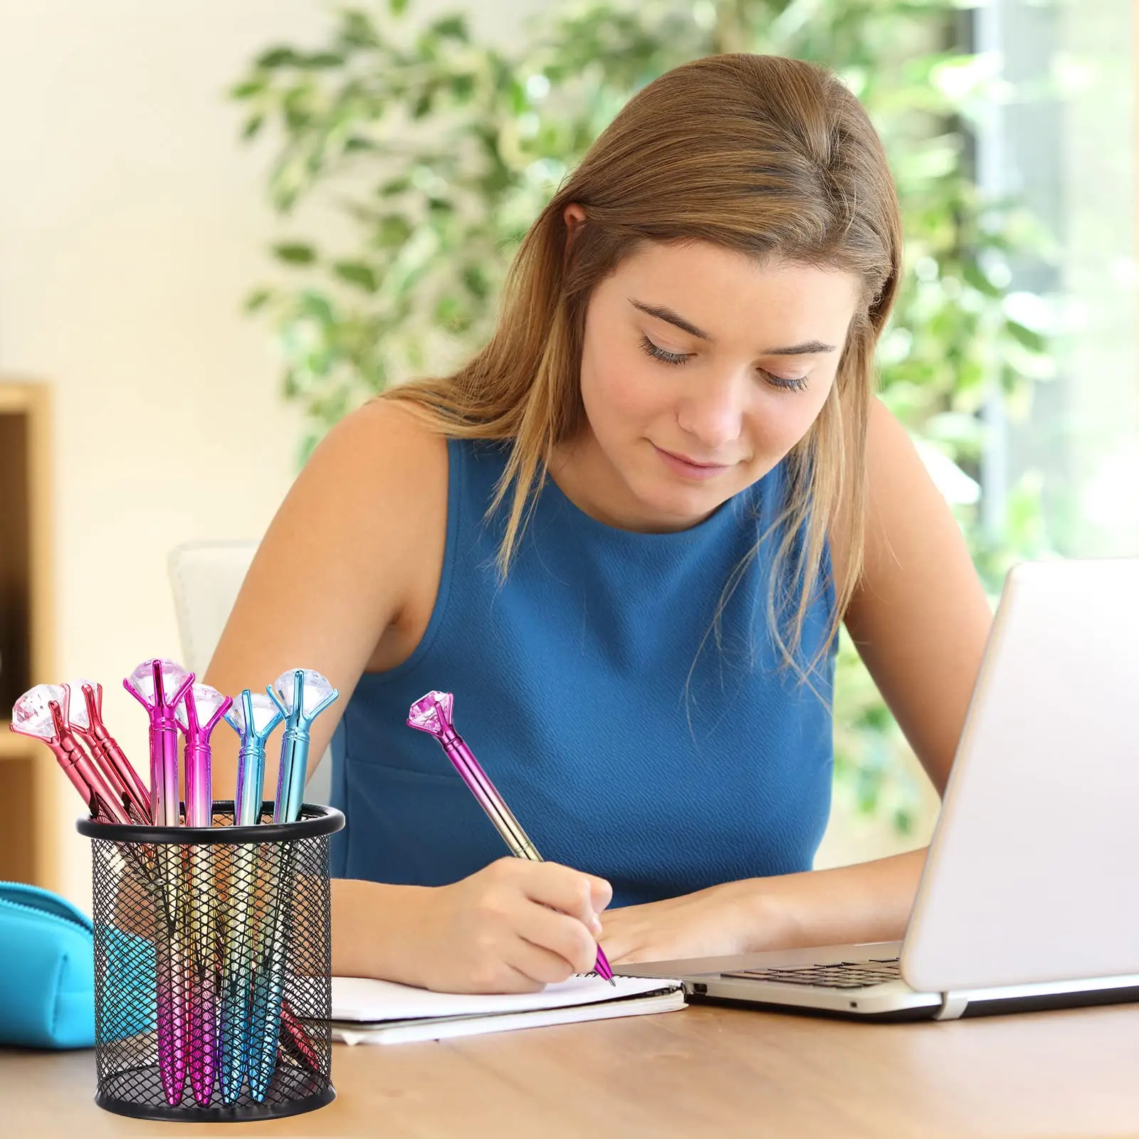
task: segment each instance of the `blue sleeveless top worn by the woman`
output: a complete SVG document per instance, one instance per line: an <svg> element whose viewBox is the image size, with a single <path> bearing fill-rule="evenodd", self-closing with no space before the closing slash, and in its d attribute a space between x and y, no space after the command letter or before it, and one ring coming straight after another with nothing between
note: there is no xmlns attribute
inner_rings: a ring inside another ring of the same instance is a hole
<svg viewBox="0 0 1139 1139"><path fill-rule="evenodd" d="M784 464L689 530L634 533L573 505L551 480L505 584L505 510L485 521L507 452L451 440L446 551L423 640L364 673L333 739L333 802L347 817L333 872L456 882L507 853L439 744L407 727L431 689L542 857L600 875L613 904L809 870L830 810L835 645L811 687L779 667L767 623ZM811 661L834 607L803 630ZM823 699L827 703L823 703Z"/></svg>

